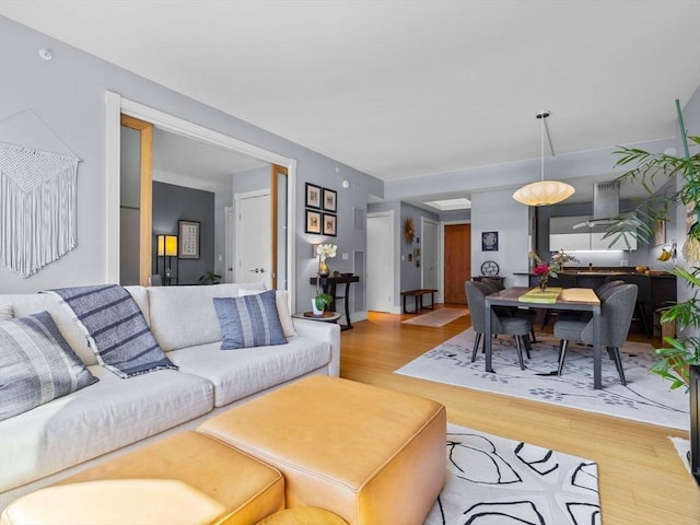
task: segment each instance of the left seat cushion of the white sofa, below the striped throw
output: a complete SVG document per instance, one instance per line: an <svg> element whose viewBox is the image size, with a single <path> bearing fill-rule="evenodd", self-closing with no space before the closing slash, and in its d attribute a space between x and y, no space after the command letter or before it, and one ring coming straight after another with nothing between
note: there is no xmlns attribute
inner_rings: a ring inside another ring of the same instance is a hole
<svg viewBox="0 0 700 525"><path fill-rule="evenodd" d="M161 370L98 383L0 421L0 491L40 479L190 421L213 408L202 377Z"/></svg>

